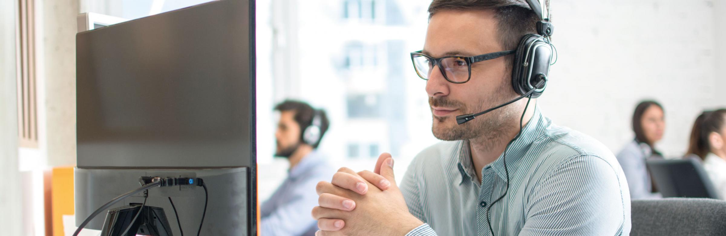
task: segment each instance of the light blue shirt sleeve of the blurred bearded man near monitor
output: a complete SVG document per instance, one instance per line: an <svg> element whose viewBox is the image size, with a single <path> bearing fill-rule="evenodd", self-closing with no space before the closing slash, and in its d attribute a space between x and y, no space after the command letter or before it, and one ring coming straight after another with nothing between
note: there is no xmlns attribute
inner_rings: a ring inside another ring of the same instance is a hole
<svg viewBox="0 0 726 236"><path fill-rule="evenodd" d="M261 219L261 235L302 235L315 224L310 212L317 206L315 185L318 179L310 179L295 188L295 200L277 206Z"/></svg>

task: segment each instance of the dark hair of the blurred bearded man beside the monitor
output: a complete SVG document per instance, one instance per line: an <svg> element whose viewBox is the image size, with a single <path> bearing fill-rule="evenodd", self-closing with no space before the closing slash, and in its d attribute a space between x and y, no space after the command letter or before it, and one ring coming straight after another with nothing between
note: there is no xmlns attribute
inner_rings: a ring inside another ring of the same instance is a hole
<svg viewBox="0 0 726 236"><path fill-rule="evenodd" d="M295 112L293 119L295 120L295 123L298 123L298 126L300 126L300 140L302 142L303 131L305 131L305 129L313 123L313 117L316 113L316 110L308 105L306 102L289 99L276 105L274 107L274 110ZM317 110L317 113L320 116L320 137L318 138L317 142L311 145L313 146L313 148L317 148L318 145L320 145L320 140L322 140L322 137L325 134L325 131L327 131L328 126L330 126L330 121L327 120L325 110Z"/></svg>

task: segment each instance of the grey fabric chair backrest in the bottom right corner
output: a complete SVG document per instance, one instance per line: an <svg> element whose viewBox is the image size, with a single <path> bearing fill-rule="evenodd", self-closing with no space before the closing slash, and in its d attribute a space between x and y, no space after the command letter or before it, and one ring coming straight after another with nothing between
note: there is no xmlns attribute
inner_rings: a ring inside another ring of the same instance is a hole
<svg viewBox="0 0 726 236"><path fill-rule="evenodd" d="M630 235L726 235L725 200L633 200L631 207Z"/></svg>

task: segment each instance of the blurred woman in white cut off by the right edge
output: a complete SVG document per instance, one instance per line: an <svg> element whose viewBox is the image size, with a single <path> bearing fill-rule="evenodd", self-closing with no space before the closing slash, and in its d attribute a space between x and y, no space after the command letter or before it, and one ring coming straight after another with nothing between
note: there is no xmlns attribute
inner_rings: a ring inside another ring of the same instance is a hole
<svg viewBox="0 0 726 236"><path fill-rule="evenodd" d="M703 160L703 169L716 192L721 199L726 199L726 109L698 115L690 131L688 154Z"/></svg>

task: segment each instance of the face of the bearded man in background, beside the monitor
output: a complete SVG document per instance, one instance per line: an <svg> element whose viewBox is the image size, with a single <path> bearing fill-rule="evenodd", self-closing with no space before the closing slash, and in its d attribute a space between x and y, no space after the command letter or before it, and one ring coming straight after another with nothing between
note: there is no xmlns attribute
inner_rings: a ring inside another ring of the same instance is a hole
<svg viewBox="0 0 726 236"><path fill-rule="evenodd" d="M275 131L274 137L277 139L276 156L289 158L298 149L301 129L298 123L295 122L295 111L280 112L280 121L277 122L277 131Z"/></svg>

